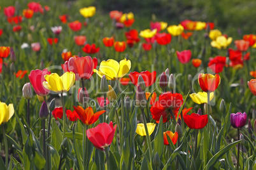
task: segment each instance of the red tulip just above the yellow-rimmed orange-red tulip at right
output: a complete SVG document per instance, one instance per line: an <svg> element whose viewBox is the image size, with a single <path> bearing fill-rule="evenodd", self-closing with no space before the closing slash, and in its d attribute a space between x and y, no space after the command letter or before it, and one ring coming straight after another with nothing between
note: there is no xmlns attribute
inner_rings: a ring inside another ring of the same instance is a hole
<svg viewBox="0 0 256 170"><path fill-rule="evenodd" d="M226 57L225 56L215 56L210 62L208 63L208 67L215 73L222 72L223 68L226 65Z"/></svg>

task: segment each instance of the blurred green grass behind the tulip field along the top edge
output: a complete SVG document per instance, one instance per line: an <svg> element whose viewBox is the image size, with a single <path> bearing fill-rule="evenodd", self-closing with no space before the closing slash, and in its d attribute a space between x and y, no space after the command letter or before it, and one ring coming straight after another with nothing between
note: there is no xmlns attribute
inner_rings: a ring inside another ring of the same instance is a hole
<svg viewBox="0 0 256 170"><path fill-rule="evenodd" d="M1 0L0 6L3 10L6 6L14 4L24 6L29 2L28 0ZM86 6L96 6L97 15L108 15L111 10L132 11L136 19L134 27L140 25L141 29L149 27L149 21L153 19L168 22L169 25L187 19L214 22L217 29L234 38L240 38L243 34L256 33L255 0L48 0L36 2L50 6L56 16L60 6L62 6L62 13L69 14L77 11L77 15L80 15L78 9Z"/></svg>

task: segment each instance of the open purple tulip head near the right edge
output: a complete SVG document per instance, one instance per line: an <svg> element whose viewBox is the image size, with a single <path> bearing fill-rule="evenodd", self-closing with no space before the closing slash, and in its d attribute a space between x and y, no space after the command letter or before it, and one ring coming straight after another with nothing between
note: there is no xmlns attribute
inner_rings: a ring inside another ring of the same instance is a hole
<svg viewBox="0 0 256 170"><path fill-rule="evenodd" d="M241 112L231 114L231 125L234 128L243 128L246 124L246 118L247 115L245 112L243 114Z"/></svg>

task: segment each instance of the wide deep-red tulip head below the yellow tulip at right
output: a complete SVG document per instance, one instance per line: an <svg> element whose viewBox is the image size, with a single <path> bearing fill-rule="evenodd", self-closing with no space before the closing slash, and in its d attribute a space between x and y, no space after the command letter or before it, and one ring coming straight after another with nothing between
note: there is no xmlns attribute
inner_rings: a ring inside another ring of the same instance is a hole
<svg viewBox="0 0 256 170"><path fill-rule="evenodd" d="M184 115L184 122L190 129L203 129L208 123L208 115L191 114Z"/></svg>

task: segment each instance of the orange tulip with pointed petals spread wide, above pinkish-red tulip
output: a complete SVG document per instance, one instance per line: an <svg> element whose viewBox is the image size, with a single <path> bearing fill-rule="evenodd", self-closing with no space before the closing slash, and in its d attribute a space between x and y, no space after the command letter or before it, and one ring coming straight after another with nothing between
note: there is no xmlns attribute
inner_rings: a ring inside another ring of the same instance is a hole
<svg viewBox="0 0 256 170"><path fill-rule="evenodd" d="M80 120L86 125L93 124L99 119L99 116L101 114L106 112L106 110L101 110L94 114L94 110L92 109L92 107L87 107L85 108L85 110L83 110L83 108L80 106L78 107L73 106L73 107L76 110L76 113L79 115Z"/></svg>

